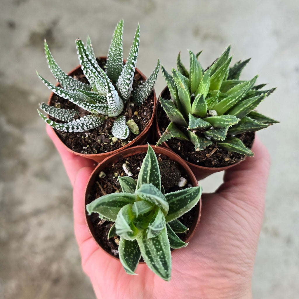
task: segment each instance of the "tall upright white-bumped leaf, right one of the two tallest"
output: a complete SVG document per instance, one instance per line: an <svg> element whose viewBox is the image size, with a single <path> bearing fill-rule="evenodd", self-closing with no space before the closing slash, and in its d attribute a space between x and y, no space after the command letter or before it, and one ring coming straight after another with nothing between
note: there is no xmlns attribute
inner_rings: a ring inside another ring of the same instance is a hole
<svg viewBox="0 0 299 299"><path fill-rule="evenodd" d="M134 78L136 60L137 60L138 49L139 49L139 38L140 38L140 29L138 24L128 59L125 65L123 66L121 74L116 83L116 86L120 91L121 97L124 102L128 100L132 92L133 78Z"/></svg>

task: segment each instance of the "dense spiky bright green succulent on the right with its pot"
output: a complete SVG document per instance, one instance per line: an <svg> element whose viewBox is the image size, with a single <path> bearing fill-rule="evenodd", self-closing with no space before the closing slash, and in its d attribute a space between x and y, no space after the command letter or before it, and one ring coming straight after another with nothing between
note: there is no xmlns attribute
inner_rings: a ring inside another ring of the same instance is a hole
<svg viewBox="0 0 299 299"><path fill-rule="evenodd" d="M229 67L230 46L206 70L198 54L189 51L190 70L182 64L172 74L162 66L167 87L162 91L156 117L157 145L172 149L184 158L202 179L253 156L254 132L277 123L254 109L274 90L265 84L239 80L250 59ZM171 139L175 138L175 139Z"/></svg>

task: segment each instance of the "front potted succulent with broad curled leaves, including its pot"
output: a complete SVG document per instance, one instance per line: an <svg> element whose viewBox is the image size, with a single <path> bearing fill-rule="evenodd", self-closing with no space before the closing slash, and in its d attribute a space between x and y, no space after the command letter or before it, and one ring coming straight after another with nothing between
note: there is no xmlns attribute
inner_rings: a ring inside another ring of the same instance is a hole
<svg viewBox="0 0 299 299"><path fill-rule="evenodd" d="M132 149L134 153L124 149L105 159L92 173L86 187L86 222L94 240L112 257L118 256L128 274L134 274L142 256L155 274L170 280L170 248L187 246L193 235L202 188L187 164L170 150L155 148L157 159L150 145ZM179 184L173 186L179 169Z"/></svg>

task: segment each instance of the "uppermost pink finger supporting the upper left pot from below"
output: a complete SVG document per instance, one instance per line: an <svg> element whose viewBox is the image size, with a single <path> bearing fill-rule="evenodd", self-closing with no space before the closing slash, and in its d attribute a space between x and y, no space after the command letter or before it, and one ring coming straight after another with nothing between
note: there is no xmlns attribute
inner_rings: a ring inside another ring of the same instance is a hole
<svg viewBox="0 0 299 299"><path fill-rule="evenodd" d="M69 152L68 149L65 148L62 141L55 134L54 130L48 124L46 126L46 130L62 158L63 165L71 184L74 185L78 170L82 167L94 168L96 166L96 162Z"/></svg>

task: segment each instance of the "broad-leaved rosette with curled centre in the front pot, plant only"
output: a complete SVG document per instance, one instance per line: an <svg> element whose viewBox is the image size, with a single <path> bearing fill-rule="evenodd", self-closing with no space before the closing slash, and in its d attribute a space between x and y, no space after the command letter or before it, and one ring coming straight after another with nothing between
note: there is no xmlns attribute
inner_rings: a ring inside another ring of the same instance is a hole
<svg viewBox="0 0 299 299"><path fill-rule="evenodd" d="M135 274L141 258L149 269L164 280L170 280L170 248L187 246L177 233L187 231L178 218L193 208L202 188L191 187L164 194L158 160L148 146L137 181L118 177L122 193L101 196L86 205L89 214L115 222L108 238L120 236L119 258L128 274Z"/></svg>

